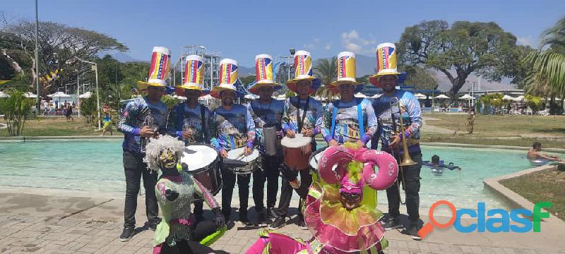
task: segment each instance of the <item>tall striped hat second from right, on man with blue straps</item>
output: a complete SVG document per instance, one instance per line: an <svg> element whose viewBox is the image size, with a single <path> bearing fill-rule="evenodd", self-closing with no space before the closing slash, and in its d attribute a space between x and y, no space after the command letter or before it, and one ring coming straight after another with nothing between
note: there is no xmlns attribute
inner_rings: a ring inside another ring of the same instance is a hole
<svg viewBox="0 0 565 254"><path fill-rule="evenodd" d="M329 90L333 93L338 93L338 87L342 84L355 85L355 92L360 92L363 89L361 83L355 80L355 53L353 52L340 52L338 59L335 60L335 66L338 73L338 79L330 83Z"/></svg>

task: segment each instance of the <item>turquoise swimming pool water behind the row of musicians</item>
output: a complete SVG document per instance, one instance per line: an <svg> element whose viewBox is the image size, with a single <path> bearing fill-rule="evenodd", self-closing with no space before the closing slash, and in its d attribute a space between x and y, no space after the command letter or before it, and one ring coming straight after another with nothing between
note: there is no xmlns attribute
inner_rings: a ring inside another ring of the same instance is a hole
<svg viewBox="0 0 565 254"><path fill-rule="evenodd" d="M0 186L124 193L120 145L121 140L0 142ZM531 167L525 151L518 150L424 145L422 155L424 160L439 155L462 168L446 169L442 176L435 176L422 167L422 207L441 199L458 208L476 209L477 202L505 207L496 195L484 190L482 180ZM386 202L384 191L379 192L379 202Z"/></svg>

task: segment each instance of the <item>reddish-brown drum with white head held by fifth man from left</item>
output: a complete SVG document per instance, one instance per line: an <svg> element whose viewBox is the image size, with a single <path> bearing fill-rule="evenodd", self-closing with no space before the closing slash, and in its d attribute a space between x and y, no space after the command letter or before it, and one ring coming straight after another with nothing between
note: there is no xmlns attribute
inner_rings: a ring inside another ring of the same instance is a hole
<svg viewBox="0 0 565 254"><path fill-rule="evenodd" d="M304 137L301 133L295 138L285 137L280 141L283 145L285 164L292 170L302 170L309 167L308 160L312 153L312 138Z"/></svg>

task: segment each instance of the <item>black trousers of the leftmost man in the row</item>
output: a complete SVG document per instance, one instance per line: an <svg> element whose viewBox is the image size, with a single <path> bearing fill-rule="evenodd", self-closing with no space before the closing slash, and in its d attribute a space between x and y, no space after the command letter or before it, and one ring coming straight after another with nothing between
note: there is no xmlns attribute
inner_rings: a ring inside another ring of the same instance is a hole
<svg viewBox="0 0 565 254"><path fill-rule="evenodd" d="M143 155L133 152L124 152L124 173L126 174L126 203L124 206L124 227L136 226L137 195L143 176L145 188L145 211L148 222L159 222L157 214L157 198L155 198L155 184L157 173L147 169L143 162Z"/></svg>

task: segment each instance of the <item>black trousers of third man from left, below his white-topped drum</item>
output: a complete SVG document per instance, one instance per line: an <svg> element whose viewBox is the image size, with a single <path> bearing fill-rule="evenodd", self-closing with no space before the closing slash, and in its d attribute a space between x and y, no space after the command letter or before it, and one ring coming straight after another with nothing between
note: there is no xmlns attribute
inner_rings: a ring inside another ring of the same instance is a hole
<svg viewBox="0 0 565 254"><path fill-rule="evenodd" d="M230 217L232 213L232 195L236 178L237 188L239 189L239 212L247 212L251 174L235 174L232 169L226 168L223 165L220 171L222 173L222 213L225 217Z"/></svg>

